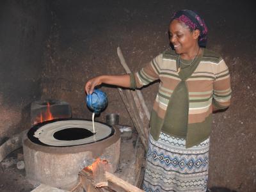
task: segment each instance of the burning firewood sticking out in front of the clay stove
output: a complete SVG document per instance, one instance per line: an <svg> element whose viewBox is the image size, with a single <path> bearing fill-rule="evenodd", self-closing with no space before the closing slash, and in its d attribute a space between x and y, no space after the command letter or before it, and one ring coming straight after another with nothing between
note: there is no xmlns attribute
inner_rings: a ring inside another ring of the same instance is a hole
<svg viewBox="0 0 256 192"><path fill-rule="evenodd" d="M84 168L80 175L82 184L86 191L134 191L143 192L143 190L132 186L128 182L116 177L111 171L111 166L108 161L97 159L91 166Z"/></svg>

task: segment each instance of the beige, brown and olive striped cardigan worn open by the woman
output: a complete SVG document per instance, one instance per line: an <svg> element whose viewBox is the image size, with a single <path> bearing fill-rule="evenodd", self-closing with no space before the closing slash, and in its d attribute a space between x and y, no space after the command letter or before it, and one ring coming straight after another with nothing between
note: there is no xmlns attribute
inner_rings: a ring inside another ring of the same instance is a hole
<svg viewBox="0 0 256 192"><path fill-rule="evenodd" d="M177 54L168 49L159 54L139 72L131 74L131 88L141 88L152 81L160 80L159 91L150 116L150 134L158 140L166 134L186 138L186 147L193 147L207 139L211 133L212 108L225 109L230 105L230 76L225 61L216 53L204 49L195 71L186 80L177 73ZM188 92L188 122L186 136L163 128L168 104L177 85L184 81Z"/></svg>

